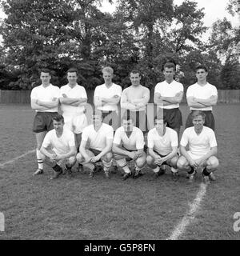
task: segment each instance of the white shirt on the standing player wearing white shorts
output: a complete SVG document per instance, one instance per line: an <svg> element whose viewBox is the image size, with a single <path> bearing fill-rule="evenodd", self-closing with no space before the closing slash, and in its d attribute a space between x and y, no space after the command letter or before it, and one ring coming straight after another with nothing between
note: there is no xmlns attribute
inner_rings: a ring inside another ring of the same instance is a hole
<svg viewBox="0 0 240 256"><path fill-rule="evenodd" d="M68 98L87 98L86 90L83 86L74 86L71 88L68 84L60 88L60 97L62 94L66 94ZM84 106L70 106L67 104L62 104L62 112L65 115L75 115L82 114L85 110Z"/></svg>

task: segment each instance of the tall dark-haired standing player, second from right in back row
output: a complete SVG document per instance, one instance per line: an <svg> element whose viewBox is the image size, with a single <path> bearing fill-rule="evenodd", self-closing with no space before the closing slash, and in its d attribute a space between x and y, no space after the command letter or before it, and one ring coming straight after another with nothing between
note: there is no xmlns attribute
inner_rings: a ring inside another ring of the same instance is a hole
<svg viewBox="0 0 240 256"><path fill-rule="evenodd" d="M182 126L182 113L179 103L182 101L182 83L174 80L176 66L172 62L166 62L163 66L165 81L158 82L154 89L154 103L158 105L157 115L166 115L167 126L174 129L179 137Z"/></svg>

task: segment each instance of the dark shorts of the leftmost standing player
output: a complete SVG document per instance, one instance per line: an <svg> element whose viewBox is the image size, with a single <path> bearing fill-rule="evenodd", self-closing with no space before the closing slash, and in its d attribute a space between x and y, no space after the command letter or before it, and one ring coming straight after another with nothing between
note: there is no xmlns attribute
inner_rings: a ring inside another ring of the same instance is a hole
<svg viewBox="0 0 240 256"><path fill-rule="evenodd" d="M34 133L41 133L54 129L53 118L58 112L37 112L34 118Z"/></svg>

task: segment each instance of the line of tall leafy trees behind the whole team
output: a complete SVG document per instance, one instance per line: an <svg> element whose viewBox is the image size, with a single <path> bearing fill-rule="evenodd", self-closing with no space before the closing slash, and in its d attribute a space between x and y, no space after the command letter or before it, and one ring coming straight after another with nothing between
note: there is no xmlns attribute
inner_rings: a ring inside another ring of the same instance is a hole
<svg viewBox="0 0 240 256"><path fill-rule="evenodd" d="M112 0L109 0L113 3ZM102 0L0 0L0 89L30 90L40 84L39 70L53 70L52 83L66 84L66 70L79 70L78 83L94 89L103 82L102 66L114 68L114 82L130 85L130 70L142 73L142 85L163 80L162 66L174 62L185 87L196 82L194 68L204 64L218 89L240 88L238 29L224 18L214 22L202 42L204 10L196 2L116 0L113 14ZM238 0L227 9L237 14ZM223 60L223 61L222 61Z"/></svg>

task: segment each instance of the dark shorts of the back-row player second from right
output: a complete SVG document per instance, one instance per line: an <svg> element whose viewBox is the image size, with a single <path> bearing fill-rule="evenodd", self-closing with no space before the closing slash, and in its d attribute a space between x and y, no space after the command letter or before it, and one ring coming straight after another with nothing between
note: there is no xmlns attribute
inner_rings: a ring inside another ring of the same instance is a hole
<svg viewBox="0 0 240 256"><path fill-rule="evenodd" d="M182 113L179 108L174 108L170 110L158 108L157 115L159 115L160 117L162 115L166 116L167 127L175 129L182 126Z"/></svg>

